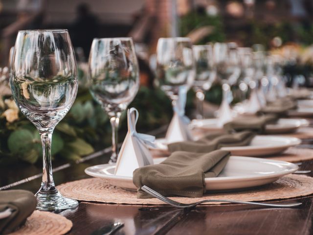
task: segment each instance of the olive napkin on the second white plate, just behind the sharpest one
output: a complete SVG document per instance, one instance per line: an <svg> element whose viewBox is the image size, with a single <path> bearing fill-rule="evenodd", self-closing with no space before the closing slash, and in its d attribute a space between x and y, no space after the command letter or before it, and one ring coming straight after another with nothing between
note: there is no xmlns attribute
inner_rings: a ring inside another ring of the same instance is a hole
<svg viewBox="0 0 313 235"><path fill-rule="evenodd" d="M208 153L221 147L249 145L254 136L255 133L251 131L234 134L215 133L206 135L198 141L175 142L167 146L171 153L175 151Z"/></svg>

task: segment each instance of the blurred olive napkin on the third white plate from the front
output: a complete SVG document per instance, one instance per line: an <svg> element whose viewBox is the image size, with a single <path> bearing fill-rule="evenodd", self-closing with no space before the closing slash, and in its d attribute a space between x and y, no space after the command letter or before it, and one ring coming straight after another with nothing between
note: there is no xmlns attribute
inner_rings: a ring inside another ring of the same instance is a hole
<svg viewBox="0 0 313 235"><path fill-rule="evenodd" d="M260 134L266 133L266 124L275 123L277 121L277 116L272 114L262 115L262 116L247 116L235 118L234 120L224 124L224 130L227 132L232 131L254 131Z"/></svg>

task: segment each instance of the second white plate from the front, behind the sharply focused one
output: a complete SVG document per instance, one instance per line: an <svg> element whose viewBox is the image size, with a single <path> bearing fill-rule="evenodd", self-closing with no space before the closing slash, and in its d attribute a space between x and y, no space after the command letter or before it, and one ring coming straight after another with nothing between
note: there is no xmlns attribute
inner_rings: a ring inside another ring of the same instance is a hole
<svg viewBox="0 0 313 235"><path fill-rule="evenodd" d="M230 151L232 155L259 157L281 153L287 148L300 143L301 140L295 137L257 135L252 139L250 145L222 147L221 149ZM167 151L166 140L156 139L156 149Z"/></svg>

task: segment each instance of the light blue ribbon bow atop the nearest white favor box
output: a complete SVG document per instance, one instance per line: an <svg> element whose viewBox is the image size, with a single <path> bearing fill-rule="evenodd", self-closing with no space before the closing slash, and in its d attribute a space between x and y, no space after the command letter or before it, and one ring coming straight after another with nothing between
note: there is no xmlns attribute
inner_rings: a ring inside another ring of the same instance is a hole
<svg viewBox="0 0 313 235"><path fill-rule="evenodd" d="M156 145L155 145L156 137L155 136L137 133L137 131L136 131L136 123L137 123L137 120L139 118L138 110L136 110L135 108L130 108L128 110L127 118L128 118L128 125L129 125L130 131L131 131L131 135L136 137L138 141L155 148L156 147Z"/></svg>

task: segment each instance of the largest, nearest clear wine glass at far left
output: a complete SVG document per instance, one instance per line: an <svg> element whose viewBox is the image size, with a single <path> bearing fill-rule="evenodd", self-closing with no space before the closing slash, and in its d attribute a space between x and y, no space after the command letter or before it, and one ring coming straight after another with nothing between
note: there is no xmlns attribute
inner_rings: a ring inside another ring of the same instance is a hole
<svg viewBox="0 0 313 235"><path fill-rule="evenodd" d="M13 53L11 89L19 109L38 129L43 144L43 179L37 209L75 208L78 202L55 188L51 139L72 106L78 88L73 47L67 29L19 31Z"/></svg>

